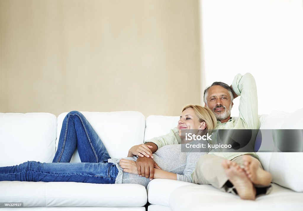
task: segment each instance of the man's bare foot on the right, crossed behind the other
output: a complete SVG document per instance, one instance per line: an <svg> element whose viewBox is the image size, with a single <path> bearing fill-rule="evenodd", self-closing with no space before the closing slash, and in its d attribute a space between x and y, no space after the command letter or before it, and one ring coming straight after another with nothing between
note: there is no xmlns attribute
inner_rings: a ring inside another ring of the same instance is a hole
<svg viewBox="0 0 303 211"><path fill-rule="evenodd" d="M260 167L260 162L249 155L243 155L244 171L252 183L256 185L269 185L271 174Z"/></svg>

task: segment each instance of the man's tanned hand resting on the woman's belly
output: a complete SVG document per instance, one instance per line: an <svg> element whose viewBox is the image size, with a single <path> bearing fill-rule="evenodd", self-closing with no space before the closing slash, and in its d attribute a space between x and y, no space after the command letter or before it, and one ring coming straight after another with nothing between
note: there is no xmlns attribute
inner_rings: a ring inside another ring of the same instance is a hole
<svg viewBox="0 0 303 211"><path fill-rule="evenodd" d="M137 171L142 177L154 179L154 168L161 169L156 162L150 157L138 157Z"/></svg>

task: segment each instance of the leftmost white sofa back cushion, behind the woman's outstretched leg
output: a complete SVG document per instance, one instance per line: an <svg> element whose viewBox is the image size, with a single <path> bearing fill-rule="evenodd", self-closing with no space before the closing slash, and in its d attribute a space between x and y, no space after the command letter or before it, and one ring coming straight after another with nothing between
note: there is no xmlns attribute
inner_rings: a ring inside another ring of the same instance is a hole
<svg viewBox="0 0 303 211"><path fill-rule="evenodd" d="M0 166L52 162L56 127L50 113L0 113Z"/></svg>

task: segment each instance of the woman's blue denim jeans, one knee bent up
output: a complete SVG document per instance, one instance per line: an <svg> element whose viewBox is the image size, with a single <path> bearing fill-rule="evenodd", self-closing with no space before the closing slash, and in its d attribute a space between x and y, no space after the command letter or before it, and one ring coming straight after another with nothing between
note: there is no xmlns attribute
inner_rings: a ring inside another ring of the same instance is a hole
<svg viewBox="0 0 303 211"><path fill-rule="evenodd" d="M68 163L78 148L82 163ZM82 113L69 112L62 124L53 163L27 161L0 167L0 181L85 182L112 184L118 175L115 164Z"/></svg>

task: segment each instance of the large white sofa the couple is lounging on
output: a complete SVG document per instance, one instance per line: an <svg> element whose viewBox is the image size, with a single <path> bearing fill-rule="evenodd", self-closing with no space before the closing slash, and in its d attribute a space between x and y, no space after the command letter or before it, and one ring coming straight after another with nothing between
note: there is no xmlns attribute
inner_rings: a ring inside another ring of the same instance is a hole
<svg viewBox="0 0 303 211"><path fill-rule="evenodd" d="M0 114L0 166L28 160L52 162L64 116L49 113ZM140 112L83 112L104 142L111 157L168 133L178 116L149 116ZM274 111L260 116L261 129L301 129L303 109ZM273 175L273 191L256 201L240 200L209 185L154 179L147 189L136 184L73 182L0 182L1 202L23 202L30 209L78 210L303 210L303 153L258 153ZM72 162L79 162L77 152ZM35 208L34 208L35 207ZM8 208L2 208L5 210ZM9 208L26 209L26 208Z"/></svg>

